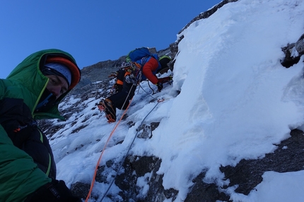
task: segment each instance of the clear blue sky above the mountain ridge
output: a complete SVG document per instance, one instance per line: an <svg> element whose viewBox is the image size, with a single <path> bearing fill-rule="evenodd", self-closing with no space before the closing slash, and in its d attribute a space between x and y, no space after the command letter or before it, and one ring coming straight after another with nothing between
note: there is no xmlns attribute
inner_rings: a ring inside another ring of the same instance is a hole
<svg viewBox="0 0 304 202"><path fill-rule="evenodd" d="M221 0L1 1L0 78L41 49L69 52L78 66L136 47L169 47L190 20Z"/></svg>

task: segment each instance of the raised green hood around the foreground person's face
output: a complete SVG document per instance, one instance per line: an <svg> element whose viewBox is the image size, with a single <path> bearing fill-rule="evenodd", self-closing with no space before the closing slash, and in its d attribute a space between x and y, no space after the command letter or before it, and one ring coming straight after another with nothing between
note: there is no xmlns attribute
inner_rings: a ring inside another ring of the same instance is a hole
<svg viewBox="0 0 304 202"><path fill-rule="evenodd" d="M69 93L71 88L60 96L56 100L56 104L48 109L47 112L34 112L42 93L47 87L47 82L49 81L49 78L44 76L40 69L45 65L47 59L52 57L61 57L72 62L76 66L74 71L78 71L79 78L76 81L76 83L78 83L80 80L80 70L78 69L75 59L71 54L59 49L45 49L31 54L18 64L4 80L5 86L8 88L4 97L23 99L25 105L30 108L34 119L57 118L64 120L64 117L59 114L58 105L66 94Z"/></svg>

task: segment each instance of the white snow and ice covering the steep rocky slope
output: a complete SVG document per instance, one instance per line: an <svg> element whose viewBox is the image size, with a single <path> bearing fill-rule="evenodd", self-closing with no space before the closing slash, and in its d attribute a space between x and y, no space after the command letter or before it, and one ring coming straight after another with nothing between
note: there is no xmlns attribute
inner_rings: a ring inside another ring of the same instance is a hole
<svg viewBox="0 0 304 202"><path fill-rule="evenodd" d="M128 117L110 138L100 165L122 160L149 112L144 123L160 121L160 125L152 138L135 138L130 153L162 159L158 174L164 174L165 189L179 191L175 201L186 198L192 179L202 170L207 170L205 182L228 184L221 165L236 165L241 159L273 152L275 143L304 124L303 57L289 69L280 64L281 47L304 33L303 11L304 2L298 0L240 0L192 23L177 36L185 38L179 44L173 85L151 95L147 83L141 83L145 91L136 91ZM164 101L150 103L156 96ZM71 97L60 107L66 109L77 101ZM100 151L115 126L94 108L98 101L92 98L82 103L81 112L73 114L65 129L50 140L58 179L69 186L90 183ZM117 117L121 114L118 110ZM135 125L129 128L128 121ZM71 133L83 125L87 126ZM266 172L257 191L248 196L233 188L226 192L233 201L302 201L303 178L303 171ZM107 184L94 187L102 195ZM118 191L113 184L110 193Z"/></svg>

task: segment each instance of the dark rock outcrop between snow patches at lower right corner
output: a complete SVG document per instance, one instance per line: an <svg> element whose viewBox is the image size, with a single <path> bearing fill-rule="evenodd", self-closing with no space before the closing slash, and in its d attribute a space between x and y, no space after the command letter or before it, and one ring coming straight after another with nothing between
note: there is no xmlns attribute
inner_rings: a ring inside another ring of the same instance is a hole
<svg viewBox="0 0 304 202"><path fill-rule="evenodd" d="M235 167L221 167L228 186L238 184L236 192L249 194L257 184L262 182L262 174L267 171L294 172L304 170L304 136L303 131L291 131L291 138L282 141L274 153L268 153L257 160L241 160ZM227 187L224 187L227 188Z"/></svg>

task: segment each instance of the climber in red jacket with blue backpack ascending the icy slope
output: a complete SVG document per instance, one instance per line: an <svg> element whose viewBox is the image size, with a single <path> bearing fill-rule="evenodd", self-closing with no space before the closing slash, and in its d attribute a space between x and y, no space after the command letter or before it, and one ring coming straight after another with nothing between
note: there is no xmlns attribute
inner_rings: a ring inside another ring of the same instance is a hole
<svg viewBox="0 0 304 202"><path fill-rule="evenodd" d="M136 53L136 50L139 53ZM127 56L127 62L122 64L121 69L117 71L117 83L115 84L115 94L110 95L98 103L98 108L104 111L109 123L116 121L116 108L127 109L129 100L134 96L136 85L148 78L158 91L163 89L163 83L168 82L172 77L157 78L156 73L167 64L163 62L163 66L158 61L157 54L150 54L146 48L136 49ZM141 53L142 52L142 53ZM134 57L134 54L136 56ZM131 59L130 59L131 58ZM163 57L166 61L170 57Z"/></svg>

